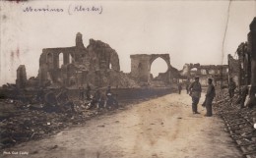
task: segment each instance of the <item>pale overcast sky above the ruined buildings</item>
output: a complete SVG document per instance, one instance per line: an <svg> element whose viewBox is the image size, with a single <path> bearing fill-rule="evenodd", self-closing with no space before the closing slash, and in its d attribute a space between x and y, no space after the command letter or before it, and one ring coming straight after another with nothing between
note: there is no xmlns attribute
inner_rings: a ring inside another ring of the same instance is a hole
<svg viewBox="0 0 256 158"><path fill-rule="evenodd" d="M131 54L165 54L181 70L185 63L221 65L229 1L30 1L1 4L0 84L15 82L16 70L25 65L36 77L42 48L75 45L77 32L84 45L90 38L108 43L119 55L121 71L131 71ZM75 12L75 7L98 11ZM59 9L63 12L24 12ZM255 1L232 1L224 41L226 55L247 40L256 16ZM158 63L160 61L160 63ZM160 59L152 73L164 72Z"/></svg>

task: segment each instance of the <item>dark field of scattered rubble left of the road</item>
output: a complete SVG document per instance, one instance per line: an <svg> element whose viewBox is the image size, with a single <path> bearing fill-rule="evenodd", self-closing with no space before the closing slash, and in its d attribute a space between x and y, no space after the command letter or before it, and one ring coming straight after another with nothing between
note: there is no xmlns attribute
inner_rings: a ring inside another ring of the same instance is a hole
<svg viewBox="0 0 256 158"><path fill-rule="evenodd" d="M6 100L1 100L1 105ZM73 125L80 125L86 120L99 114L96 110L76 108L77 113L47 113L42 110L32 110L34 106L25 105L19 101L9 101L9 110L1 113L0 122L0 148L10 147L14 144L43 138L47 135L60 132ZM1 106L2 107L2 106ZM39 109L39 108L38 108ZM3 117L4 116L4 117Z"/></svg>

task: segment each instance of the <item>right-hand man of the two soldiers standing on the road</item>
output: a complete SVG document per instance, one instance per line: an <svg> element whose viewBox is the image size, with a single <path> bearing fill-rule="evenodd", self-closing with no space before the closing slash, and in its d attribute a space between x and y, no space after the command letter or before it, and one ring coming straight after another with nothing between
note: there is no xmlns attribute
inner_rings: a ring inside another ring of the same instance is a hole
<svg viewBox="0 0 256 158"><path fill-rule="evenodd" d="M211 117L213 115L212 102L216 96L215 85L213 84L213 79L208 79L208 88L206 92L205 106L206 106L206 117Z"/></svg>

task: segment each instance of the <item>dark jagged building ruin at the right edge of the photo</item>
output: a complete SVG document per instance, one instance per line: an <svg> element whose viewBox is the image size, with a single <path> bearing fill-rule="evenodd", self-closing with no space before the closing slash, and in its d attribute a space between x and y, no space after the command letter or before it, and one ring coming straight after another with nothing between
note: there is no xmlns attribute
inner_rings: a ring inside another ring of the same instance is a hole
<svg viewBox="0 0 256 158"><path fill-rule="evenodd" d="M242 42L236 50L237 59L228 54L229 78L233 78L239 89L250 85L250 99L255 101L256 93L256 18L250 24L250 32L246 42Z"/></svg>

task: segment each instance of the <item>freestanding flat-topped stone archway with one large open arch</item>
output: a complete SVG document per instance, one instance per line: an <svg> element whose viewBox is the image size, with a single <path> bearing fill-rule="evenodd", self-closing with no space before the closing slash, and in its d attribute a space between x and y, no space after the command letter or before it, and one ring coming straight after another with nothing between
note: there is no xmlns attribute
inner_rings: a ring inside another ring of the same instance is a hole
<svg viewBox="0 0 256 158"><path fill-rule="evenodd" d="M169 62L169 54L136 54L131 55L131 76L138 81L150 81L152 63L161 58L167 64L167 72L171 66ZM169 75L167 74L169 78ZM169 80L169 79L167 79Z"/></svg>

